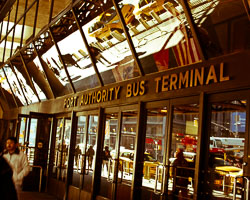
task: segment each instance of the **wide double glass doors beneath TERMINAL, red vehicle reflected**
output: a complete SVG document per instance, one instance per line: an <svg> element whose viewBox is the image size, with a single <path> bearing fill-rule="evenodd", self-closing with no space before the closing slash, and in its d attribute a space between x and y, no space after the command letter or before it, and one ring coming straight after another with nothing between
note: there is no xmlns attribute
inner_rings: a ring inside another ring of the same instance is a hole
<svg viewBox="0 0 250 200"><path fill-rule="evenodd" d="M199 98L148 103L146 114L140 198L192 199Z"/></svg>

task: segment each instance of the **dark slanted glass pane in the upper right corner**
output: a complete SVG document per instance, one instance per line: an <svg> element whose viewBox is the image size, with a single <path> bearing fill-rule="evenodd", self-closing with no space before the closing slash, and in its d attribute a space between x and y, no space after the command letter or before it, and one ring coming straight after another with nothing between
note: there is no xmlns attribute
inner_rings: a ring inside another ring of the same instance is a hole
<svg viewBox="0 0 250 200"><path fill-rule="evenodd" d="M190 1L189 6L208 57L250 48L249 19L243 2Z"/></svg>

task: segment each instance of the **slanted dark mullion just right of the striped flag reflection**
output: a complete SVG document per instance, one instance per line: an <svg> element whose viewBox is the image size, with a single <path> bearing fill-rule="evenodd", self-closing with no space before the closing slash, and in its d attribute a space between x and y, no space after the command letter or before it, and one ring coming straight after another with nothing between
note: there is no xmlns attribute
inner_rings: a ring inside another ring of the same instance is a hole
<svg viewBox="0 0 250 200"><path fill-rule="evenodd" d="M205 50L204 50L204 47L202 46L201 38L200 38L200 35L198 34L198 28L194 22L194 18L192 16L188 2L186 0L179 0L179 1L181 2L184 14L185 14L187 22L190 26L190 29L191 29L192 35L194 37L194 41L196 43L197 50L199 52L201 60L205 61L206 60Z"/></svg>

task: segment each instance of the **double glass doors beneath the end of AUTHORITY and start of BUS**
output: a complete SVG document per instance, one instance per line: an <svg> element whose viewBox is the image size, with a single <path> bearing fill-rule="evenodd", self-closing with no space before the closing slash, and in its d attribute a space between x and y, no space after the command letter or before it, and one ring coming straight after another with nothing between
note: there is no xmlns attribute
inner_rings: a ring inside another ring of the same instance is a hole
<svg viewBox="0 0 250 200"><path fill-rule="evenodd" d="M134 173L137 107L114 108L105 113L99 195L130 199Z"/></svg>

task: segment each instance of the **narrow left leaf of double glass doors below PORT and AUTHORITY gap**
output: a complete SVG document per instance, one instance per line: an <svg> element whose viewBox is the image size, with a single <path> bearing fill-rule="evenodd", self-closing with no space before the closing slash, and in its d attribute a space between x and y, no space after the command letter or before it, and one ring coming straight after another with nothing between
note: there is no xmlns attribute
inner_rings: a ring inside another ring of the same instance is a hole
<svg viewBox="0 0 250 200"><path fill-rule="evenodd" d="M76 133L76 146L74 154L74 167L73 167L73 177L72 185L80 186L80 174L84 172L84 138L86 137L86 116L79 116L77 122L77 133Z"/></svg>

